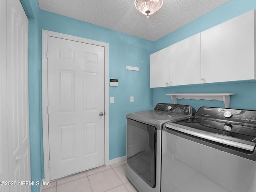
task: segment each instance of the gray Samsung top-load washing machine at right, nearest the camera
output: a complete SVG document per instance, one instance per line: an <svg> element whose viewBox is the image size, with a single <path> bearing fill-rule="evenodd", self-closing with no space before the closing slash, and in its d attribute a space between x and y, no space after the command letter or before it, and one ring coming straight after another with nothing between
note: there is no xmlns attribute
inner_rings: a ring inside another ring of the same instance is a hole
<svg viewBox="0 0 256 192"><path fill-rule="evenodd" d="M201 107L162 130L161 192L256 192L256 110Z"/></svg>

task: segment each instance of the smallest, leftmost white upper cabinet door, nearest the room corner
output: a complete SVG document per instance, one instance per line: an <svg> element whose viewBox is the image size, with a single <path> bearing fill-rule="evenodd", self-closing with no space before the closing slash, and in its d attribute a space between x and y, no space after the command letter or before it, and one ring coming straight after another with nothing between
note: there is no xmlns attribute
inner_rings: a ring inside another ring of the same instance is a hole
<svg viewBox="0 0 256 192"><path fill-rule="evenodd" d="M150 55L150 88L166 87L170 83L170 47Z"/></svg>

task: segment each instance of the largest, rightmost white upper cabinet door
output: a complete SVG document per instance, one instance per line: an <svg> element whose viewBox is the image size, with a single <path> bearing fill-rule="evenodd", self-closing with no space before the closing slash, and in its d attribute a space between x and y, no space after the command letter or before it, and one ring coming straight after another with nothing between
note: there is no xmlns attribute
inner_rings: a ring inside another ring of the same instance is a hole
<svg viewBox="0 0 256 192"><path fill-rule="evenodd" d="M254 10L202 32L202 82L254 79L254 43Z"/></svg>

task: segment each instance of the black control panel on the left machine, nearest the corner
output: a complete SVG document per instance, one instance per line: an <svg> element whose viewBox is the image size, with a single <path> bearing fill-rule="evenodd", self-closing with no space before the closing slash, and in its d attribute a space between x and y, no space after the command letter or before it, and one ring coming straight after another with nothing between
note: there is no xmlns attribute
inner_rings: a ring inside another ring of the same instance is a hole
<svg viewBox="0 0 256 192"><path fill-rule="evenodd" d="M154 110L194 116L196 110L189 105L158 103Z"/></svg>

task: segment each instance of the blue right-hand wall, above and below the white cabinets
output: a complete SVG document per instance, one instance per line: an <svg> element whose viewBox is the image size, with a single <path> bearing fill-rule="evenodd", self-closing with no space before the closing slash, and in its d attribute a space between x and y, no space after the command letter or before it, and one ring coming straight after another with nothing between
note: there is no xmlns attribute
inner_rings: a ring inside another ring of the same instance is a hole
<svg viewBox="0 0 256 192"><path fill-rule="evenodd" d="M167 34L155 42L154 52L216 26L240 14L256 9L255 0L231 0L226 4L212 10L193 20L178 30ZM252 69L253 70L253 69ZM218 75L218 74L216 74ZM230 97L230 108L244 108L256 110L256 82L239 81L212 84L197 84L191 86L172 86L168 88L153 88L153 106L158 102L173 103L168 93L204 93L204 92L235 92ZM206 100L177 100L178 104L188 104L196 108L200 106L224 107L220 101Z"/></svg>

